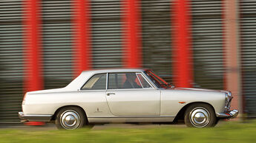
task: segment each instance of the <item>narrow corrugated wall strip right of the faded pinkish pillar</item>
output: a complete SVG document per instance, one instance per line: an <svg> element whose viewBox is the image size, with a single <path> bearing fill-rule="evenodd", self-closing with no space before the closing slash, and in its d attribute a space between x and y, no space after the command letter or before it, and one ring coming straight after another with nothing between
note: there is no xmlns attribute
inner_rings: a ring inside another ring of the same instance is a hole
<svg viewBox="0 0 256 143"><path fill-rule="evenodd" d="M256 117L256 1L240 1L244 111Z"/></svg>

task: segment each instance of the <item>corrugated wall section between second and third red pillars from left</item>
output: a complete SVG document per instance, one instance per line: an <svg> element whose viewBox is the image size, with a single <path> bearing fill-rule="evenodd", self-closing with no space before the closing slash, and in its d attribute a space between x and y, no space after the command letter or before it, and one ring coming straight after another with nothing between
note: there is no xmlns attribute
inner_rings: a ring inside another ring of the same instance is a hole
<svg viewBox="0 0 256 143"><path fill-rule="evenodd" d="M93 69L122 67L121 0L91 0Z"/></svg>

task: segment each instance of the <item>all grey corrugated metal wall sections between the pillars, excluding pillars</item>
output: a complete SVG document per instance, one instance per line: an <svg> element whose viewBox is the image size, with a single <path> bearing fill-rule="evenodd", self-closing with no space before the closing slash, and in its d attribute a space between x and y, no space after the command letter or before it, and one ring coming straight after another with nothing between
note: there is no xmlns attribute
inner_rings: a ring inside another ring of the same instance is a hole
<svg viewBox="0 0 256 143"><path fill-rule="evenodd" d="M19 122L23 97L22 0L0 1L0 122ZM122 0L91 0L93 69L122 67ZM72 0L42 0L42 70L45 88L73 79ZM171 82L170 0L141 0L142 65ZM256 116L255 1L240 1L243 95ZM194 83L223 88L222 0L191 0Z"/></svg>

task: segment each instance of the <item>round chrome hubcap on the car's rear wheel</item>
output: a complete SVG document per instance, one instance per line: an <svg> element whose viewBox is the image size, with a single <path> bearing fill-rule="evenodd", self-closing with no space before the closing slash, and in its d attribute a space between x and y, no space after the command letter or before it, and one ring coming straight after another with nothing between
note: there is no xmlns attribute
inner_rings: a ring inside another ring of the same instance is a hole
<svg viewBox="0 0 256 143"><path fill-rule="evenodd" d="M73 110L63 112L60 119L62 127L68 130L76 129L80 125L80 116Z"/></svg>

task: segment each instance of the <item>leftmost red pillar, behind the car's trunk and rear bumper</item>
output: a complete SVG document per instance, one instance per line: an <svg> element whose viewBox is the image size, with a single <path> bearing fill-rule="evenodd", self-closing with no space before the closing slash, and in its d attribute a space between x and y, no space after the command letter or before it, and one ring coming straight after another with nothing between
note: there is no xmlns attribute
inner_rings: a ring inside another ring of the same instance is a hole
<svg viewBox="0 0 256 143"><path fill-rule="evenodd" d="M42 89L41 17L38 0L24 0L24 86L25 91ZM43 125L29 122L28 125Z"/></svg>

